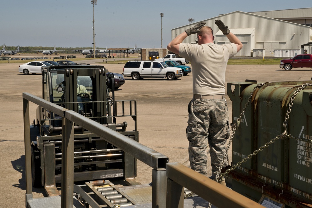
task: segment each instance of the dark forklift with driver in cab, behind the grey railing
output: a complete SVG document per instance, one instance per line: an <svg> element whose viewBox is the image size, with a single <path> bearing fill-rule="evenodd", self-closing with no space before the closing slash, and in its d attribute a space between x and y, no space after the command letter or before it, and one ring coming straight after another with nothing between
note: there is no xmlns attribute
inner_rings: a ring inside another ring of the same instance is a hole
<svg viewBox="0 0 312 208"><path fill-rule="evenodd" d="M104 66L42 66L42 99L139 141L136 102L115 100L114 74ZM30 132L32 186L44 186L53 196L48 187L61 183L62 116L38 106ZM74 181L122 178L131 184L136 177L133 156L77 124L74 133Z"/></svg>

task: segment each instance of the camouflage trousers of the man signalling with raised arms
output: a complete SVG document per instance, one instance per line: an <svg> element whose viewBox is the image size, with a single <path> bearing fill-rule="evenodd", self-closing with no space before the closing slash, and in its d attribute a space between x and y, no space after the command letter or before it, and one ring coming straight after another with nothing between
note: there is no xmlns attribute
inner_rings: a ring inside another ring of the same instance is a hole
<svg viewBox="0 0 312 208"><path fill-rule="evenodd" d="M188 154L191 168L207 177L207 143L212 176L222 162L229 137L228 108L225 99L192 99L188 104ZM228 165L228 158L224 166Z"/></svg>

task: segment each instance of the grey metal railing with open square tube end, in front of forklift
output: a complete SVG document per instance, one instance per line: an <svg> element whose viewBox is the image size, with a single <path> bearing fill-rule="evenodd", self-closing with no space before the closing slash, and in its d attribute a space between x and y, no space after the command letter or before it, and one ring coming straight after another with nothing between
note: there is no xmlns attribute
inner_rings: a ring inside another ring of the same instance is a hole
<svg viewBox="0 0 312 208"><path fill-rule="evenodd" d="M26 205L32 200L32 173L31 173L31 138L29 128L29 102L37 104L62 117L62 190L61 207L73 207L74 192L74 123L86 128L100 138L122 149L124 152L139 159L153 168L152 206L165 207L163 200L166 193L161 189L166 184L166 163L168 157L144 146L128 137L103 126L96 121L86 118L74 111L62 108L44 99L29 93L23 93L23 117L25 138L25 172L26 172ZM66 177L63 177L66 176Z"/></svg>

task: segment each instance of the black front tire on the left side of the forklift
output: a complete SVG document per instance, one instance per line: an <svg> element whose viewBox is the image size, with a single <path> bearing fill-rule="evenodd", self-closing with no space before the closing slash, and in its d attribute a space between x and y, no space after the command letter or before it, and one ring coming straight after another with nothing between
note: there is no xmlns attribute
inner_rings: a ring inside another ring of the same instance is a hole
<svg viewBox="0 0 312 208"><path fill-rule="evenodd" d="M40 152L39 150L32 146L31 148L31 158L32 158L32 186L42 187L41 185L41 168L40 168Z"/></svg>

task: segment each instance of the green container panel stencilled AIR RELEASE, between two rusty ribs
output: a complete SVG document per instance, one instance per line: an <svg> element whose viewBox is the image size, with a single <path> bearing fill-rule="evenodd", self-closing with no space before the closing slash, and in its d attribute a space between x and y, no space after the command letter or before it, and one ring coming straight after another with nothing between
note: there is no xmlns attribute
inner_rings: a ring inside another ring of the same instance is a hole
<svg viewBox="0 0 312 208"><path fill-rule="evenodd" d="M261 87L261 92L255 98L255 114L257 129L257 148L264 146L284 132L286 105L297 85L281 85L282 83L269 83ZM288 175L288 155L285 154L287 143L278 139L275 143L264 148L257 154L257 172L274 181L285 181ZM254 149L256 150L256 149Z"/></svg>

